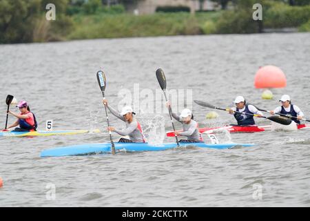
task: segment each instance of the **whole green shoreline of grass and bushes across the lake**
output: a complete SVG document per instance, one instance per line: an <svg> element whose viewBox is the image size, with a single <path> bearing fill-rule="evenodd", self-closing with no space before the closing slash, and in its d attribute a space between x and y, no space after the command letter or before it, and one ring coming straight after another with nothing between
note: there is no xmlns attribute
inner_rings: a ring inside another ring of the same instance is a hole
<svg viewBox="0 0 310 221"><path fill-rule="evenodd" d="M252 34L270 32L310 32L310 6L287 6L271 2L262 21L254 21L251 8L211 12L156 12L132 15L120 8L112 11L57 15L48 21L45 14L28 22L14 21L0 32L0 44L70 41L77 39L117 39L178 35ZM20 18L21 19L21 18ZM0 23L1 25L1 23ZM1 26L0 26L1 27Z"/></svg>

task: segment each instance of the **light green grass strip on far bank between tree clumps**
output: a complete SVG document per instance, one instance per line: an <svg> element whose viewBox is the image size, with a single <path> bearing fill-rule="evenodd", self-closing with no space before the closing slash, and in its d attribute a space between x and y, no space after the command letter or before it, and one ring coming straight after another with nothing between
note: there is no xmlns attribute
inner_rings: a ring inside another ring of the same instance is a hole
<svg viewBox="0 0 310 221"><path fill-rule="evenodd" d="M203 34L201 23L213 20L218 13L187 12L163 13L154 15L106 15L98 14L83 17L76 15L74 22L79 23L69 35L69 39L94 39L114 37L147 37L162 35L199 35Z"/></svg>

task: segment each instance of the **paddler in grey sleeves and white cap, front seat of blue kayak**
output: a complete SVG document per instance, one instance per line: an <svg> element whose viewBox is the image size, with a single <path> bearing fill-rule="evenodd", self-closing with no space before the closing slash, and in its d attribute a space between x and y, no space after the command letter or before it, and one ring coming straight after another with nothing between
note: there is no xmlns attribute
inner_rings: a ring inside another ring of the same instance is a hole
<svg viewBox="0 0 310 221"><path fill-rule="evenodd" d="M104 104L106 104L107 108L110 110L112 115L114 115L115 117L118 117L118 119L121 119L126 124L126 128L123 130L118 130L112 126L107 128L108 131L114 131L115 133L118 133L119 135L122 135L122 136L128 135L130 137L130 140L122 137L118 142L123 142L123 143L129 143L129 142L130 143L131 142L144 143L146 142L141 125L134 118L134 115L136 115L136 113L134 113L134 111L132 110L130 106L123 107L121 113L118 113L118 111L116 111L114 108L112 108L111 106L107 104L107 99L103 100L103 105Z"/></svg>

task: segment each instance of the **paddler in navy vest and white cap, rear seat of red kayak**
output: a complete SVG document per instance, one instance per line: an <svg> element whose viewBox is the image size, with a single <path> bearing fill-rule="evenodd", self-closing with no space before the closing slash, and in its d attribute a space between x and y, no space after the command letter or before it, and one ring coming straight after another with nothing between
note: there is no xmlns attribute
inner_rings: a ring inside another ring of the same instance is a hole
<svg viewBox="0 0 310 221"><path fill-rule="evenodd" d="M291 97L289 97L289 95L282 95L279 102L282 103L282 106L278 106L273 111L270 111L271 115L275 113L280 113L282 115L292 116L291 119L296 122L296 124L300 124L300 119L304 117L304 114L302 113L302 111L300 111L300 108L298 108L298 106L291 104Z"/></svg>

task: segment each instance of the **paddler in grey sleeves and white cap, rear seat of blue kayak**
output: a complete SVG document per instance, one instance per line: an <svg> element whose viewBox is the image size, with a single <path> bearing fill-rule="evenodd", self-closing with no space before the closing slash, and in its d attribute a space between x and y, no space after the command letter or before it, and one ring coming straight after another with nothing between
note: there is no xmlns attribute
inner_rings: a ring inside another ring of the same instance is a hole
<svg viewBox="0 0 310 221"><path fill-rule="evenodd" d="M167 106L170 106L169 102L167 102ZM185 108L179 116L172 113L172 117L174 117L174 119L180 122L183 126L183 132L176 131L176 135L187 137L187 140L180 140L180 142L203 142L203 139L198 131L198 123L194 121L194 116L191 110Z"/></svg>

